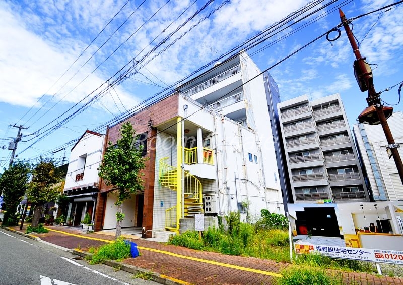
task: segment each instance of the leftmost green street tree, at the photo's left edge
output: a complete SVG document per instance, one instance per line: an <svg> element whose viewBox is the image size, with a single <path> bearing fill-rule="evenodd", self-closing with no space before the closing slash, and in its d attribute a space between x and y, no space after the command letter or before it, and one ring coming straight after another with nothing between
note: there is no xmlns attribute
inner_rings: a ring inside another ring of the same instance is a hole
<svg viewBox="0 0 403 285"><path fill-rule="evenodd" d="M28 179L31 168L29 163L18 161L9 169L4 168L0 177L0 189L3 189L6 213L3 217L3 226L18 225L16 210L28 188Z"/></svg>

